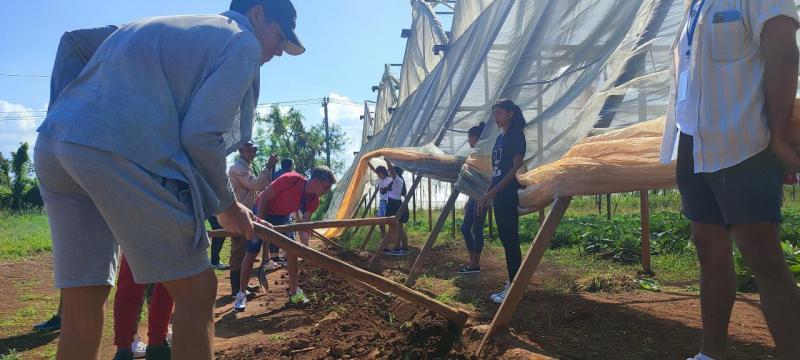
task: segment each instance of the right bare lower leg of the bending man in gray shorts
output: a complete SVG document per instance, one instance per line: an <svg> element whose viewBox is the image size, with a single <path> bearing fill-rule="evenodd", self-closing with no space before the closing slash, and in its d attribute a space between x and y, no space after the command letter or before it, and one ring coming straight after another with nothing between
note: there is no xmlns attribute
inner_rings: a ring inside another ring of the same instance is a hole
<svg viewBox="0 0 800 360"><path fill-rule="evenodd" d="M249 254L248 254L249 255ZM172 358L212 359L217 277L209 268L188 278L162 283L175 300Z"/></svg>

